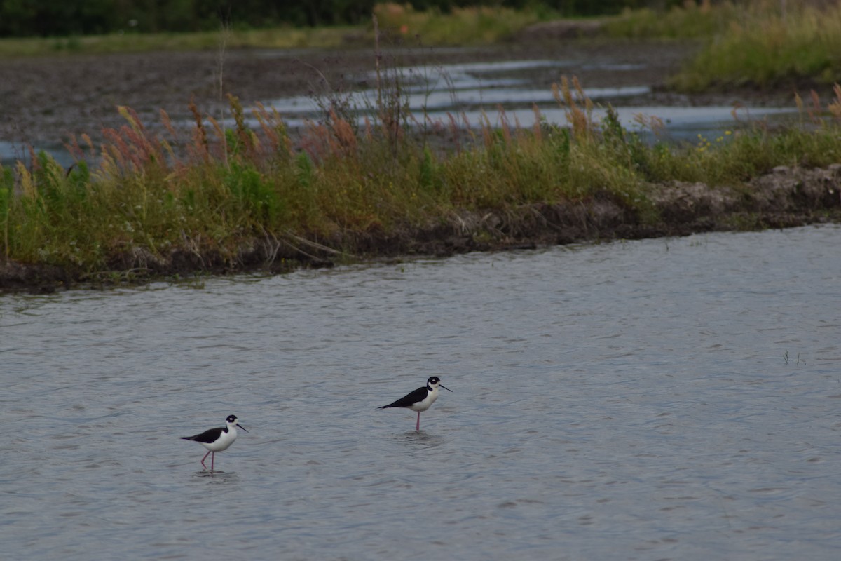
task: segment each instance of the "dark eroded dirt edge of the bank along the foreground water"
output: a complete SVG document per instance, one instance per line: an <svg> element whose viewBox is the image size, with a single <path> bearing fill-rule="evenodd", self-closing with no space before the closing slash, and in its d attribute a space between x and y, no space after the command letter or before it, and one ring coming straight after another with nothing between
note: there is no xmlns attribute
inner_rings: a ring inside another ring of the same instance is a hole
<svg viewBox="0 0 841 561"><path fill-rule="evenodd" d="M80 284L103 286L195 273L287 272L331 267L336 262L449 256L580 241L683 236L716 230L785 228L841 220L841 164L826 169L779 167L736 188L703 183L653 186L661 220L643 222L609 193L576 204L535 204L497 212L462 212L426 227L384 233L346 233L334 239L286 235L254 239L239 255L223 257L197 248L154 255L143 249L115 257L109 272L89 275L50 266L0 263L0 290L52 292ZM343 253L334 248L351 248Z"/></svg>

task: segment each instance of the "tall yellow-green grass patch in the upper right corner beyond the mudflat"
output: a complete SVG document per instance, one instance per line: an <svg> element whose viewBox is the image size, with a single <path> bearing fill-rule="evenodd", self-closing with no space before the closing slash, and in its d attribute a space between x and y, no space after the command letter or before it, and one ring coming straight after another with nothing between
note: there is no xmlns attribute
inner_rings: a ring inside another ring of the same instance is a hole
<svg viewBox="0 0 841 561"><path fill-rule="evenodd" d="M698 55L670 80L675 89L776 87L841 81L841 5L787 0L686 3L606 19L615 38L696 40Z"/></svg>

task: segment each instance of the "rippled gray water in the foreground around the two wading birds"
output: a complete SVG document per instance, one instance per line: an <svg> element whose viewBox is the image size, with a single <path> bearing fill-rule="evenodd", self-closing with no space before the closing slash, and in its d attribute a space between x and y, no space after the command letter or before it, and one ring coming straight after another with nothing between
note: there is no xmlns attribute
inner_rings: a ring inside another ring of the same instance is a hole
<svg viewBox="0 0 841 561"><path fill-rule="evenodd" d="M839 236L0 297L2 557L834 560Z"/></svg>

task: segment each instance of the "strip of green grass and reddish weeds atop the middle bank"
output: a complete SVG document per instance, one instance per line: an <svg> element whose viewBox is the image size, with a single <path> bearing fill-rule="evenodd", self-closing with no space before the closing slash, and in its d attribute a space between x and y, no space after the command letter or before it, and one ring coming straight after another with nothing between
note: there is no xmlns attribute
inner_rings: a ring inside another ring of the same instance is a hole
<svg viewBox="0 0 841 561"><path fill-rule="evenodd" d="M44 154L29 167L0 168L0 255L88 275L147 267L176 249L235 267L256 240L387 235L463 209L508 213L604 196L656 220L652 183L733 185L780 164L841 160L841 88L829 108L803 104L808 130L758 126L678 147L643 143L612 112L595 122L592 103L576 103L575 90L581 94L565 80L553 90L568 127L521 128L500 114L499 129L486 121L463 130L454 120L437 126L455 139L447 148L416 135L408 118L386 130L332 114L310 124L296 151L278 114L257 108L260 125L250 129L233 97L234 127L193 108L193 134L180 140L166 114L171 132L159 136L120 108L126 124L106 132L101 150L85 136L71 143L71 170ZM394 122L393 107L374 108L381 122ZM833 118L818 116L825 109Z"/></svg>

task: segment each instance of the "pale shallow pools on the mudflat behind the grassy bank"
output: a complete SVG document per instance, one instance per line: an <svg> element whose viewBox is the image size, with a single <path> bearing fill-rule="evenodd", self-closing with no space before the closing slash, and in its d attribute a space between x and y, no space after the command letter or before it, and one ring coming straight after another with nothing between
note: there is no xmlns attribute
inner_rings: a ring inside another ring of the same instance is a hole
<svg viewBox="0 0 841 561"><path fill-rule="evenodd" d="M407 66L399 70L399 81L404 88L405 103L415 119L421 122L448 124L449 115L456 115L459 124L479 128L489 119L493 126L501 126L499 108L505 108L505 116L511 125L515 123L531 127L535 123L535 111L547 123L567 126L566 111L555 100L551 87L535 83L534 75L555 71L560 77L572 67L582 66L583 61L524 60L447 64L440 66ZM611 70L616 75L638 71L638 64L595 64L585 68ZM394 76L383 78L391 83ZM371 73L358 77L359 82L377 83ZM622 82L617 79L617 83ZM715 139L727 130L741 129L757 121L774 120L791 123L796 108L748 108L741 107L734 114L732 106L694 105L661 106L650 103L640 105L628 100L644 98L652 92L650 84L640 83L622 87L584 87L584 97L599 105L593 111L593 119L600 122L606 115L606 107L616 108L616 115L627 130L642 131L651 140L697 140L697 135ZM575 94L576 97L577 94ZM362 89L352 94L336 94L349 107L361 109L369 114L368 108L377 106L377 91ZM304 127L307 119L318 120L324 114L323 105L329 100L311 96L295 96L267 101L268 107L278 110L290 128ZM578 100L581 101L580 99ZM329 103L326 103L329 105ZM663 127L657 136L648 128L638 124L638 117L661 119ZM259 127L257 120L251 125Z"/></svg>

